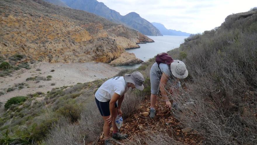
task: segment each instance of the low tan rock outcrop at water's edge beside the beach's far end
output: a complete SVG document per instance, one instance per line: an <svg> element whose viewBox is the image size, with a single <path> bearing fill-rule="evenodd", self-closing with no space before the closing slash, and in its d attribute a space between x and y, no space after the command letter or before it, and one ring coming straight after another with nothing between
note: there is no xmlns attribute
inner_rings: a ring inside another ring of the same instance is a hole
<svg viewBox="0 0 257 145"><path fill-rule="evenodd" d="M132 64L140 64L143 60L136 58L134 53L129 52L123 52L121 56L112 62L110 62L110 65L132 65Z"/></svg>

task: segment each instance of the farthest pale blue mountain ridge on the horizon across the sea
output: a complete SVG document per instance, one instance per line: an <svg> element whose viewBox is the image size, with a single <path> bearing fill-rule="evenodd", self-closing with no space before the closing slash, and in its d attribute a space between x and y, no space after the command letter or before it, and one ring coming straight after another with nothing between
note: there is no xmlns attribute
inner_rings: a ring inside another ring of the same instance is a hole
<svg viewBox="0 0 257 145"><path fill-rule="evenodd" d="M157 29L160 30L160 32L162 33L162 35L174 35L174 36L189 36L189 35L190 35L190 33L167 29L167 28L165 28L164 25L161 24L161 23L155 23L155 22L153 22L152 24L153 24Z"/></svg>

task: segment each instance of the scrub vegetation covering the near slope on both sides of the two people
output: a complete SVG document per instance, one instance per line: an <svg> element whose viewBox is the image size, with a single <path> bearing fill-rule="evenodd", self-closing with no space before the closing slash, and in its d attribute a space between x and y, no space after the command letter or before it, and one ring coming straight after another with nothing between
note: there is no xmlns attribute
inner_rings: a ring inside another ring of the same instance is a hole
<svg viewBox="0 0 257 145"><path fill-rule="evenodd" d="M257 25L253 21L256 13L250 12L254 16L251 19L231 15L220 27L192 35L179 48L168 52L174 60L182 59L189 71L188 77L180 80L182 88L169 94L180 106L172 110L173 115L181 127L190 127L203 136L205 144L257 143ZM145 89L126 93L122 104L124 120L133 117L143 99L150 99L149 71L154 62L152 58L136 69L145 77ZM118 75L136 70L121 71ZM94 102L94 92L104 81L55 88L47 94L35 93L22 105L12 105L0 119L1 133L7 132L0 137L0 143L10 143L10 138L15 143L37 141L56 145L95 141L102 132L103 120ZM171 83L172 80L168 85ZM42 100L36 100L39 98ZM147 130L146 135L136 137L137 142L128 144L180 144L174 135ZM26 136L20 137L21 134Z"/></svg>

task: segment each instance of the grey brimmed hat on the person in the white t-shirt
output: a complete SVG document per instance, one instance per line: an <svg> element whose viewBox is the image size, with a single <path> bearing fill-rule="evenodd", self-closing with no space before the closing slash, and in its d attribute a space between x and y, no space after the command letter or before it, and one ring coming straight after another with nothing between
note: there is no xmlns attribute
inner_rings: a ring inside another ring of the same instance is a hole
<svg viewBox="0 0 257 145"><path fill-rule="evenodd" d="M133 83L138 90L142 91L144 89L143 82L145 79L140 72L134 71L132 74L125 74L124 79L128 83Z"/></svg>

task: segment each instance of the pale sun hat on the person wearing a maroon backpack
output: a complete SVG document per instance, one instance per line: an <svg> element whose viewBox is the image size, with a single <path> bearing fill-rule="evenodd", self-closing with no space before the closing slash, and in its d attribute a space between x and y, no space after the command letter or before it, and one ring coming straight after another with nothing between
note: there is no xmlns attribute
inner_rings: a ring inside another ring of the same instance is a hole
<svg viewBox="0 0 257 145"><path fill-rule="evenodd" d="M188 76L186 65L180 60L171 63L171 73L178 79L185 79Z"/></svg>

